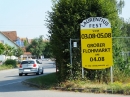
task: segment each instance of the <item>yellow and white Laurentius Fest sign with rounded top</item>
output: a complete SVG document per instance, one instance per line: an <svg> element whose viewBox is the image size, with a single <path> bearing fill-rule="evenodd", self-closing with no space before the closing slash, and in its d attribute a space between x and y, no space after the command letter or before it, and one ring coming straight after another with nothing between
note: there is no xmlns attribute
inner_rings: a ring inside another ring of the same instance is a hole
<svg viewBox="0 0 130 97"><path fill-rule="evenodd" d="M112 33L107 19L91 17L81 23L82 67L104 69L113 65Z"/></svg>

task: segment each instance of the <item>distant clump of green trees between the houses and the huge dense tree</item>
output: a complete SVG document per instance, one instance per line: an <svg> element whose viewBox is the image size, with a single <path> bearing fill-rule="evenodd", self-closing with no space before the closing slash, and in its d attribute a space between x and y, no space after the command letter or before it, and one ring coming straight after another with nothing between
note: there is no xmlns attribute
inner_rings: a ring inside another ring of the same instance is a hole
<svg viewBox="0 0 130 97"><path fill-rule="evenodd" d="M43 40L43 36L39 36L39 38L34 38L31 44L26 46L26 50L31 52L31 54L38 59L40 59L41 56L44 56L45 58L53 57L50 48L50 42L49 40Z"/></svg>

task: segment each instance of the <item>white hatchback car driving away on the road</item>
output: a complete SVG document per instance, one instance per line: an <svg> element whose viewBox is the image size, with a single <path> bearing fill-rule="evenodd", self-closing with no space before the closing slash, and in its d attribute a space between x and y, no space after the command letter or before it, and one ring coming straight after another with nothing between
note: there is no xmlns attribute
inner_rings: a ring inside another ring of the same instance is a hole
<svg viewBox="0 0 130 97"><path fill-rule="evenodd" d="M37 59L23 60L19 66L19 76L23 74L36 73L37 75L43 74L42 63Z"/></svg>

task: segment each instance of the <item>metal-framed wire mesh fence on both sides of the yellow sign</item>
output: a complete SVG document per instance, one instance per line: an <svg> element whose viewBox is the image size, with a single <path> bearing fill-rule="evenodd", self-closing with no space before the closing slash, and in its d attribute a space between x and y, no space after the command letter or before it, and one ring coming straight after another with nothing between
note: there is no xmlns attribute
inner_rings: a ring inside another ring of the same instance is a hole
<svg viewBox="0 0 130 97"><path fill-rule="evenodd" d="M113 61L114 66L130 76L130 37L112 37L113 40ZM73 65L73 42L80 42L80 39L70 39L70 64ZM79 43L80 44L80 43ZM80 45L78 45L80 48ZM80 50L81 52L81 50ZM82 63L82 62L81 62ZM113 82L113 72L115 68L110 68L111 82ZM71 69L72 74L72 69ZM82 77L84 78L84 68L82 68Z"/></svg>

